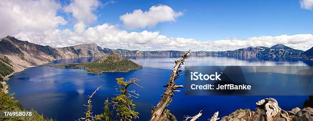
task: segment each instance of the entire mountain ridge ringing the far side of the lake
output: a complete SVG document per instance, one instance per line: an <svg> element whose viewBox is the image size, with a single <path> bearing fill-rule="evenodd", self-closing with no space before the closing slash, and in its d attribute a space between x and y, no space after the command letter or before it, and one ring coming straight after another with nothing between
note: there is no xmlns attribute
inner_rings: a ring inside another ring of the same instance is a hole
<svg viewBox="0 0 313 121"><path fill-rule="evenodd" d="M232 51L197 51L191 52L193 56L218 56L235 58L296 58L312 60L313 49L301 51L292 49L283 44L271 47L256 46L244 47ZM181 56L183 51L131 51L123 49L108 49L98 46L96 43L79 44L67 47L43 46L28 41L21 41L12 36L0 39L0 54L12 60L14 71L41 65L57 59L102 57L110 53L118 53L122 56Z"/></svg>

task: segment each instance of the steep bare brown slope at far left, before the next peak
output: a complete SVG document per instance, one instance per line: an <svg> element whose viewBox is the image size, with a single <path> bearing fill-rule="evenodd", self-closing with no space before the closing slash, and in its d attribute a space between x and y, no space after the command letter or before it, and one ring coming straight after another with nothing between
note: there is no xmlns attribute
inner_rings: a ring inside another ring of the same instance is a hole
<svg viewBox="0 0 313 121"><path fill-rule="evenodd" d="M58 52L50 46L20 41L11 36L0 39L0 54L6 55L12 61L14 71L59 58Z"/></svg>

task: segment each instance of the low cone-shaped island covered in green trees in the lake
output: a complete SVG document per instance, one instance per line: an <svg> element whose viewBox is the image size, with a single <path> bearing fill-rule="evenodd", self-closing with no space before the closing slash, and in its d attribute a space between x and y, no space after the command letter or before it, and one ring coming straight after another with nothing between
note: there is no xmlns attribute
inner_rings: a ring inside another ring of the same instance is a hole
<svg viewBox="0 0 313 121"><path fill-rule="evenodd" d="M127 72L142 68L141 65L116 53L105 55L90 63L53 65L53 67L84 68L88 73L92 74L102 74L102 72Z"/></svg>

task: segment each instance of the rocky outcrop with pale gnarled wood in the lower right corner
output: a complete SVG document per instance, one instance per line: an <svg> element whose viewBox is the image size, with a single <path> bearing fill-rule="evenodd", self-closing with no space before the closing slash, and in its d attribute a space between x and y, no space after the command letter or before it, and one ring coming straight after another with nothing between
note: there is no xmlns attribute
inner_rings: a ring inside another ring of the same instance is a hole
<svg viewBox="0 0 313 121"><path fill-rule="evenodd" d="M313 120L313 109L294 108L291 111L282 110L278 102L273 98L266 98L256 103L254 111L250 109L239 109L228 116L221 118L221 121L246 120L246 121L288 121L288 120Z"/></svg>

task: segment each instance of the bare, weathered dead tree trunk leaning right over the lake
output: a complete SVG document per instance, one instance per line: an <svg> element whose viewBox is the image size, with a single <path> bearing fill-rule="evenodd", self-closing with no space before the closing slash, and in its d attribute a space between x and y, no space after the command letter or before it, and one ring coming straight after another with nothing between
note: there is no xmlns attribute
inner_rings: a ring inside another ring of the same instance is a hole
<svg viewBox="0 0 313 121"><path fill-rule="evenodd" d="M167 85L165 85L164 87L167 87L167 89L165 90L161 101L159 102L159 104L154 107L154 110L152 111L150 120L161 120L163 119L162 117L166 116L163 112L165 110L165 108L168 106L168 104L171 102L171 97L173 96L173 92L174 91L180 91L180 90L176 90L177 88L182 88L182 85L175 85L175 79L177 79L178 77L180 77L180 75L178 74L178 71L181 71L181 65L184 64L185 59L188 58L190 56L190 50L188 52L186 52L180 60L175 60L175 66L174 69L172 70L172 74L170 76L170 79L167 83Z"/></svg>

